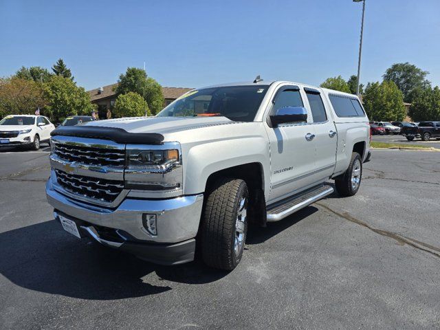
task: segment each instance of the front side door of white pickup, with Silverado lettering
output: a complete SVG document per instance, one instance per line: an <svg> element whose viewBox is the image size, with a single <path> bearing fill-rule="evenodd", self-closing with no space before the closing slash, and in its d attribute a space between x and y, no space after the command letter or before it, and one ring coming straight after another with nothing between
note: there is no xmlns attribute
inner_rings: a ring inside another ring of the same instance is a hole
<svg viewBox="0 0 440 330"><path fill-rule="evenodd" d="M278 89L270 113L282 107L304 107L297 86ZM271 157L271 191L267 203L272 203L314 184L315 131L308 123L279 124L276 128L266 125L266 129Z"/></svg>

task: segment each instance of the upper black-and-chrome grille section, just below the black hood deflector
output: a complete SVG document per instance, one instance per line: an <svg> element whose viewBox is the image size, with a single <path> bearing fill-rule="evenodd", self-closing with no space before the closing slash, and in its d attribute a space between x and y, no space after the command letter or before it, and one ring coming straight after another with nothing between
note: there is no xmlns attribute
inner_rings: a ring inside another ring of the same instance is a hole
<svg viewBox="0 0 440 330"><path fill-rule="evenodd" d="M54 142L54 153L67 162L77 162L94 166L113 166L123 168L124 149L95 148L85 145Z"/></svg>

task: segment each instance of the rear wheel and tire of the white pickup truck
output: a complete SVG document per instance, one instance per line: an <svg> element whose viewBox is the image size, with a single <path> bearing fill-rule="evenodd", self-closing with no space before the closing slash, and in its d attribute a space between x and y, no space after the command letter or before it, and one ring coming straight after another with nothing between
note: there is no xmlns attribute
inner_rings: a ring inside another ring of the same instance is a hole
<svg viewBox="0 0 440 330"><path fill-rule="evenodd" d="M336 191L341 196L353 196L356 195L360 187L360 181L362 180L362 159L359 153L351 154L351 161L349 168L344 174L336 177L335 186Z"/></svg>

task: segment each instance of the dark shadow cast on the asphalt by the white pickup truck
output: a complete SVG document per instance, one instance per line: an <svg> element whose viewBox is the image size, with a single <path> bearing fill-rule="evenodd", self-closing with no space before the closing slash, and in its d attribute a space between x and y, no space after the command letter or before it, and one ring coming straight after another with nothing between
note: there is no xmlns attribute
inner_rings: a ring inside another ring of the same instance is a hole
<svg viewBox="0 0 440 330"><path fill-rule="evenodd" d="M247 243L263 243L316 210L308 207L267 228L250 228ZM146 263L87 239L78 241L54 220L2 232L0 247L0 273L9 281L37 292L72 298L148 296L171 290L173 283L212 283L229 274L200 261L177 266ZM151 273L155 276L148 276Z"/></svg>

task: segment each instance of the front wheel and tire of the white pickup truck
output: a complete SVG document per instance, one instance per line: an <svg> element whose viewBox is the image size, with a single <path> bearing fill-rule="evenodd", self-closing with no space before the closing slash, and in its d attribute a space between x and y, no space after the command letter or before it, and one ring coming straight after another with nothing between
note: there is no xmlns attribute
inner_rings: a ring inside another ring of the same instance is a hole
<svg viewBox="0 0 440 330"><path fill-rule="evenodd" d="M201 219L203 262L219 270L239 264L248 232L248 186L241 179L219 179L210 190Z"/></svg>

